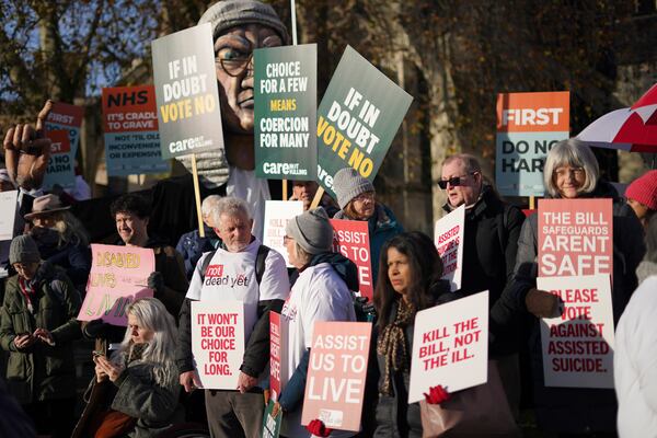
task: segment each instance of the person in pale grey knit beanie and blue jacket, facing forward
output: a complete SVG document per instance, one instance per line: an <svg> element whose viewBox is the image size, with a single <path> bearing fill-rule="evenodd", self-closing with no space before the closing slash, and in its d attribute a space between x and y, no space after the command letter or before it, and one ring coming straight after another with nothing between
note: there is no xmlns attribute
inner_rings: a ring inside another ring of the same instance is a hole
<svg viewBox="0 0 657 438"><path fill-rule="evenodd" d="M358 171L345 168L333 177L333 191L341 210L334 219L367 220L370 239L372 283L379 278L379 256L383 244L404 231L392 210L377 203L373 184Z"/></svg>

